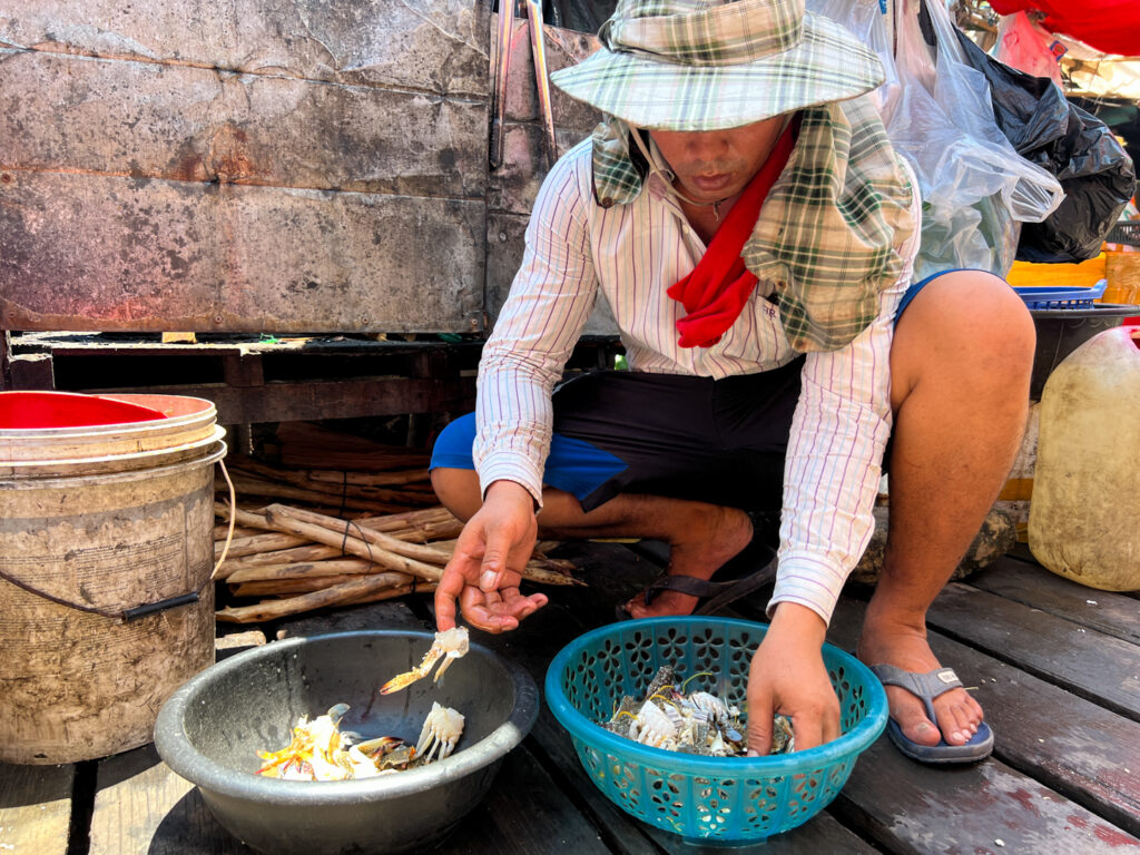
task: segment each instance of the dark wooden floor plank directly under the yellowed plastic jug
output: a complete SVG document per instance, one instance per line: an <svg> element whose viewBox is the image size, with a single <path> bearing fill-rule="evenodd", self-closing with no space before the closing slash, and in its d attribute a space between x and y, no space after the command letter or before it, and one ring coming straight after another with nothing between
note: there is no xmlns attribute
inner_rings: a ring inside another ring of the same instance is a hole
<svg viewBox="0 0 1140 855"><path fill-rule="evenodd" d="M970 577L972 587L1024 603L1082 626L1140 644L1137 602L1130 596L1078 585L1036 563L1011 557Z"/></svg>

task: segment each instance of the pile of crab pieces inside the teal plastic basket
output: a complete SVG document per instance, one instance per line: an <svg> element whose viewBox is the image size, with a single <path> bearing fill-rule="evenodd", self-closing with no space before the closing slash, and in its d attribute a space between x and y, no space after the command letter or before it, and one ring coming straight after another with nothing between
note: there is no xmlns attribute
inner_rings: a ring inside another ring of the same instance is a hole
<svg viewBox="0 0 1140 855"><path fill-rule="evenodd" d="M644 746L710 757L741 757L748 752L748 730L738 707L705 691L686 692L694 674L679 684L670 666L658 669L642 700L621 699L602 726ZM791 719L775 716L771 754L796 750Z"/></svg>

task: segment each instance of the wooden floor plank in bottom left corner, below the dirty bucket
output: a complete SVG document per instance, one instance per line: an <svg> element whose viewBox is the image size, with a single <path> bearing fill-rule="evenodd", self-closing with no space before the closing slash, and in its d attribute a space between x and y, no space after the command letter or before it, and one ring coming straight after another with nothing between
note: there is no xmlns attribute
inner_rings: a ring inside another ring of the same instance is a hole
<svg viewBox="0 0 1140 855"><path fill-rule="evenodd" d="M0 763L0 850L64 855L75 767Z"/></svg>

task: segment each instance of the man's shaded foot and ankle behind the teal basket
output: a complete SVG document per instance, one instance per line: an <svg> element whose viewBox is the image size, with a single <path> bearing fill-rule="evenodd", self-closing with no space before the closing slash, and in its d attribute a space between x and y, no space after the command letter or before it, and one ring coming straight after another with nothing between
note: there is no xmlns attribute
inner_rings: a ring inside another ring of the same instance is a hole
<svg viewBox="0 0 1140 855"><path fill-rule="evenodd" d="M752 539L752 523L743 511L720 507L702 516L705 519L689 527L683 536L670 540L670 576L693 576L708 581ZM692 614L698 602L695 596L679 591L662 591L649 605L645 596L638 594L625 608L635 618L658 618Z"/></svg>

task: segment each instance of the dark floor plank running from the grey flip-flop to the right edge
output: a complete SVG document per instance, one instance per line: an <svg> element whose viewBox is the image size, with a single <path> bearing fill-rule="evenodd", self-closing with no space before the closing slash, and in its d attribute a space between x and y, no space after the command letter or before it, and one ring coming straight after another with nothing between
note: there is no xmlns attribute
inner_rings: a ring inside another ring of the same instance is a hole
<svg viewBox="0 0 1140 855"><path fill-rule="evenodd" d="M828 641L853 650L862 617L862 603L840 598ZM939 661L976 686L1003 763L1140 834L1140 724L938 633L929 638Z"/></svg>

